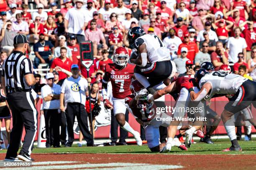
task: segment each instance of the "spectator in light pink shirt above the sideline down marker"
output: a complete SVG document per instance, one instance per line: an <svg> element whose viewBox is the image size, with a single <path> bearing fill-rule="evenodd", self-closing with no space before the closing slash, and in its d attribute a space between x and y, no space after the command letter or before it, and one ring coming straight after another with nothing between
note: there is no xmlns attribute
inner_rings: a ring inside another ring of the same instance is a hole
<svg viewBox="0 0 256 170"><path fill-rule="evenodd" d="M102 45L104 49L108 49L103 32L97 28L96 23L96 20L91 20L91 27L85 31L85 40L90 40L93 43L93 55L97 55L97 49ZM100 44L100 40L102 44Z"/></svg>

